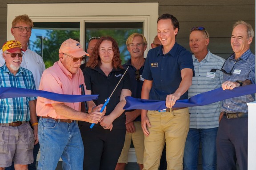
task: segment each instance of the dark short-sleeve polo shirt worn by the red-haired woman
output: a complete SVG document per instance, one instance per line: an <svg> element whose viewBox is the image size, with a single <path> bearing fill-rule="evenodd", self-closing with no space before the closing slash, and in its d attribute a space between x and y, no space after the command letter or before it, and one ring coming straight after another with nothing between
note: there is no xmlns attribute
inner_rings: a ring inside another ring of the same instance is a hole
<svg viewBox="0 0 256 170"><path fill-rule="evenodd" d="M105 103L105 100L111 95L124 72L124 69L117 68L113 69L109 75L106 76L98 66L94 69L89 67L84 68L83 73L86 89L91 90L92 94L99 94L98 99L93 100L96 105ZM107 104L105 115L109 115L119 103L122 89L131 90L130 77L127 73L125 73L122 81L120 81L115 92L112 94ZM126 128L125 120L125 114L123 113L113 121L113 128ZM89 126L90 124L88 123L86 125ZM95 126L101 127L100 124L95 124Z"/></svg>

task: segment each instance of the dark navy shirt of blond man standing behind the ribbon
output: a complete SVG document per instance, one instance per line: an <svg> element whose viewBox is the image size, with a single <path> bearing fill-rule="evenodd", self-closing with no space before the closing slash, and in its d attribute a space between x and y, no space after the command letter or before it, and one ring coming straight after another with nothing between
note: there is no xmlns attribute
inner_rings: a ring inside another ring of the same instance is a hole
<svg viewBox="0 0 256 170"><path fill-rule="evenodd" d="M143 85L144 81L136 80L136 73L135 72L136 72L137 69L134 66L132 66L131 59L123 65L124 69L127 69L128 66L129 66L128 73L129 73L130 81L131 81L132 97L140 99L141 98L142 85ZM139 71L140 75L142 75L143 69L144 69L144 66L141 66L140 71ZM133 110L126 110L126 111L131 112ZM134 121L141 121L141 116L136 117L136 119Z"/></svg>

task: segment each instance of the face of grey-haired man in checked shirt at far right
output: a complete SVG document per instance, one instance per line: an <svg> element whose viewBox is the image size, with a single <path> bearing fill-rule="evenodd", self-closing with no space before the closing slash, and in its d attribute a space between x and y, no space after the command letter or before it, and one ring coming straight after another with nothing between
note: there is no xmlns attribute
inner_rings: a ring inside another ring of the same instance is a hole
<svg viewBox="0 0 256 170"><path fill-rule="evenodd" d="M245 25L240 24L234 27L231 35L231 46L236 56L240 57L250 48L252 37L248 38L247 28Z"/></svg>

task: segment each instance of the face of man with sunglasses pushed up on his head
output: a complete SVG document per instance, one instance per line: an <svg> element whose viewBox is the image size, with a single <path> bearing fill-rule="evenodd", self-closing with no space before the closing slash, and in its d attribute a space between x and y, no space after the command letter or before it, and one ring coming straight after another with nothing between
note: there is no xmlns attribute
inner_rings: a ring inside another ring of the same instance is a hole
<svg viewBox="0 0 256 170"><path fill-rule="evenodd" d="M192 31L189 36L189 47L192 53L200 54L207 50L209 39L202 31Z"/></svg>

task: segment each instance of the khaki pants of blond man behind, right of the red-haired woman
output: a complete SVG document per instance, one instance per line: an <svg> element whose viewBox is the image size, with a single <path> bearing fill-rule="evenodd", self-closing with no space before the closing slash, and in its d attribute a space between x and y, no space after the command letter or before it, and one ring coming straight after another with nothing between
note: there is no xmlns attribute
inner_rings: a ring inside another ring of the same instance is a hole
<svg viewBox="0 0 256 170"><path fill-rule="evenodd" d="M128 163L128 152L132 141L133 146L135 148L137 163L143 164L144 133L141 128L141 122L133 122L133 124L135 126L135 132L126 132L124 147L118 159L118 163Z"/></svg>

